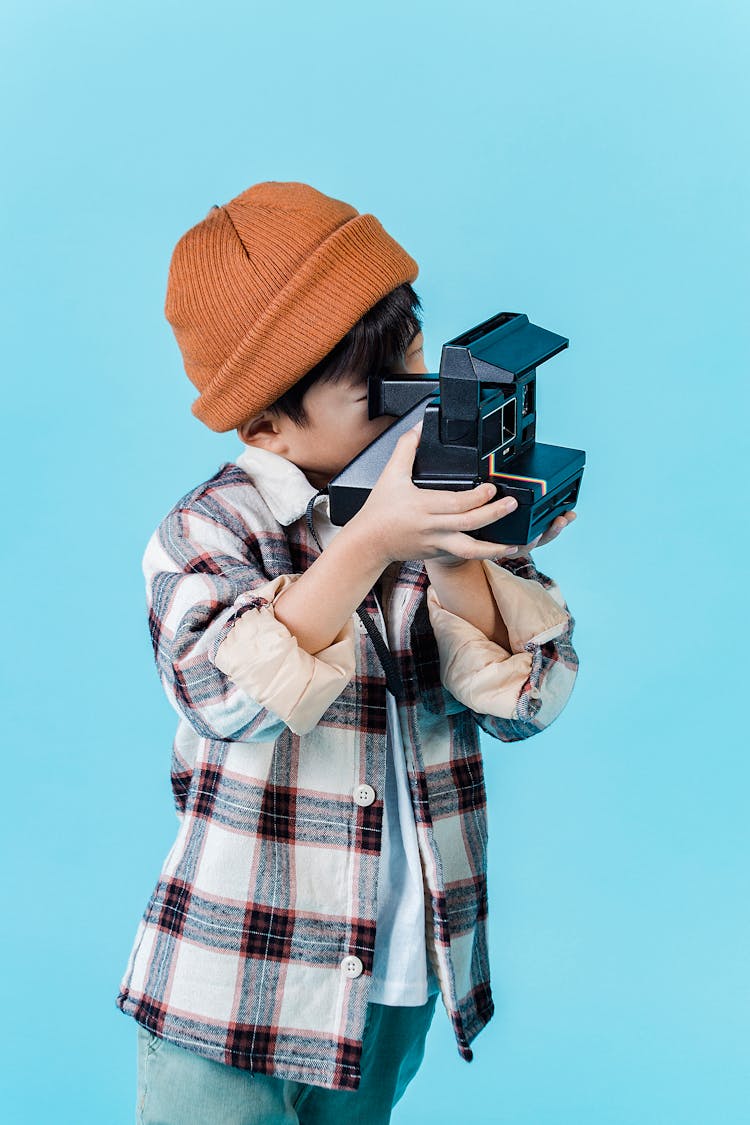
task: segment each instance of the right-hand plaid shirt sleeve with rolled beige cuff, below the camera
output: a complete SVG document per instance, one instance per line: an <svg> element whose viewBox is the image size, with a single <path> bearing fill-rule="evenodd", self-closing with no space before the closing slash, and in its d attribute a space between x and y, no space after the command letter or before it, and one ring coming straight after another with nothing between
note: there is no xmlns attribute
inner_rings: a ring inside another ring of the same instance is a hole
<svg viewBox="0 0 750 1125"><path fill-rule="evenodd" d="M508 566L508 562L510 565ZM440 604L427 590L444 686L500 741L537 734L564 708L578 670L575 621L560 590L530 558L484 559L510 650Z"/></svg>

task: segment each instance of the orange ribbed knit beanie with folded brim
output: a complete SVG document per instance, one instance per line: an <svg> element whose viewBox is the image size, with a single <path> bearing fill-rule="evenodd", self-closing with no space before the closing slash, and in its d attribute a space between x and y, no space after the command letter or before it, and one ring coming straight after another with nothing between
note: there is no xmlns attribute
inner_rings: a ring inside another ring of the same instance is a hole
<svg viewBox="0 0 750 1125"><path fill-rule="evenodd" d="M182 235L164 312L192 413L219 433L275 402L418 266L374 215L307 183L256 183Z"/></svg>

